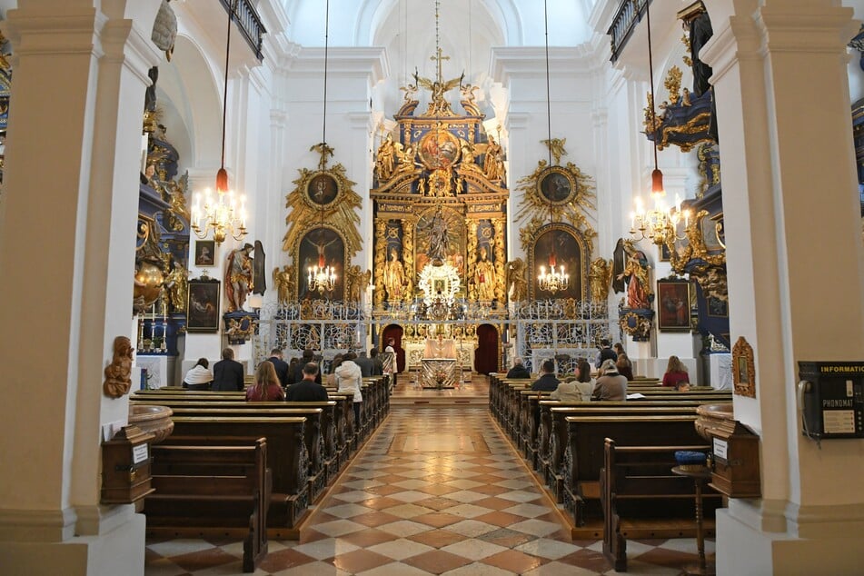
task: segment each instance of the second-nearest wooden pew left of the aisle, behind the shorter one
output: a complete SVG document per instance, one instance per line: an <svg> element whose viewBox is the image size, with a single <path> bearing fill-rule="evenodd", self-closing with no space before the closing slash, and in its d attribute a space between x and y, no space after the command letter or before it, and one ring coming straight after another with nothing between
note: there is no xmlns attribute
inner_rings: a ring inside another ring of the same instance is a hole
<svg viewBox="0 0 864 576"><path fill-rule="evenodd" d="M296 539L296 527L309 506L308 465L303 417L237 417L174 415L174 435L205 437L218 444L226 437L265 437L268 462L273 471L273 492L267 511L268 535L271 538ZM170 436L165 442L172 442Z"/></svg>

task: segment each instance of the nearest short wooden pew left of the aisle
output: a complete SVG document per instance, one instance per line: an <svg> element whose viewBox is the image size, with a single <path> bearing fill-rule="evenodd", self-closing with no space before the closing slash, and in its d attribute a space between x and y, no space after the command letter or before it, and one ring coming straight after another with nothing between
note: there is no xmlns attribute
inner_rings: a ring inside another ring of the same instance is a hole
<svg viewBox="0 0 864 576"><path fill-rule="evenodd" d="M148 535L243 536L243 571L267 555L271 471L264 438L150 447L155 492L144 498Z"/></svg>

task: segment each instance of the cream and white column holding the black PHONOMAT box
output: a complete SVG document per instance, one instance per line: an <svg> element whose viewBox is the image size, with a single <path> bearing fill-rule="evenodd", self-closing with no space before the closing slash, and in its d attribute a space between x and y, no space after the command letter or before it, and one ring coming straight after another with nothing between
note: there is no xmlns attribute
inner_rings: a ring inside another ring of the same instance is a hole
<svg viewBox="0 0 864 576"><path fill-rule="evenodd" d="M709 0L732 341L756 359L762 499L718 514L720 574L854 573L864 562L861 441L801 436L798 361L861 360L864 251L846 43L831 0ZM730 18L730 8L738 15Z"/></svg>

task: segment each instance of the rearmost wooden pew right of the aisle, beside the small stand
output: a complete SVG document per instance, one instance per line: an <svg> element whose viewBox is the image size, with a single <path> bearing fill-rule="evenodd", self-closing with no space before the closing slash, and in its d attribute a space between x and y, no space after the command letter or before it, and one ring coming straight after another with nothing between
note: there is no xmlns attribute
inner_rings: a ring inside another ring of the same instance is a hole
<svg viewBox="0 0 864 576"><path fill-rule="evenodd" d="M670 472L679 450L709 452L710 446L616 447L607 438L601 472L603 555L615 571L627 571L627 540L683 538L696 534L695 484ZM714 533L714 512L722 497L702 492L704 533Z"/></svg>

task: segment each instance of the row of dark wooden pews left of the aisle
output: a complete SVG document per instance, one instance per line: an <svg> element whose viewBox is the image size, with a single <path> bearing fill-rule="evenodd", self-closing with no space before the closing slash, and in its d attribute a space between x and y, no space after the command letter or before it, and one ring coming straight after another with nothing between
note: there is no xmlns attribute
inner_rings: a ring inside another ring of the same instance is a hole
<svg viewBox="0 0 864 576"><path fill-rule="evenodd" d="M238 439L265 439L272 483L263 514L266 533L273 538L297 539L309 505L322 497L390 410L389 393L381 377L363 379L359 422L354 421L352 394L328 390L328 395L328 402L245 402L243 392L163 388L135 392L132 402L168 406L174 411L174 433L154 449L197 446L206 451L241 442ZM158 470L159 450L153 457L154 470ZM153 496L158 495L157 489ZM193 501L199 496L206 501L204 494L188 496ZM199 529L206 528L177 522L158 529L154 525L151 530L151 502L156 501L150 496L144 501L149 534L198 535Z"/></svg>

